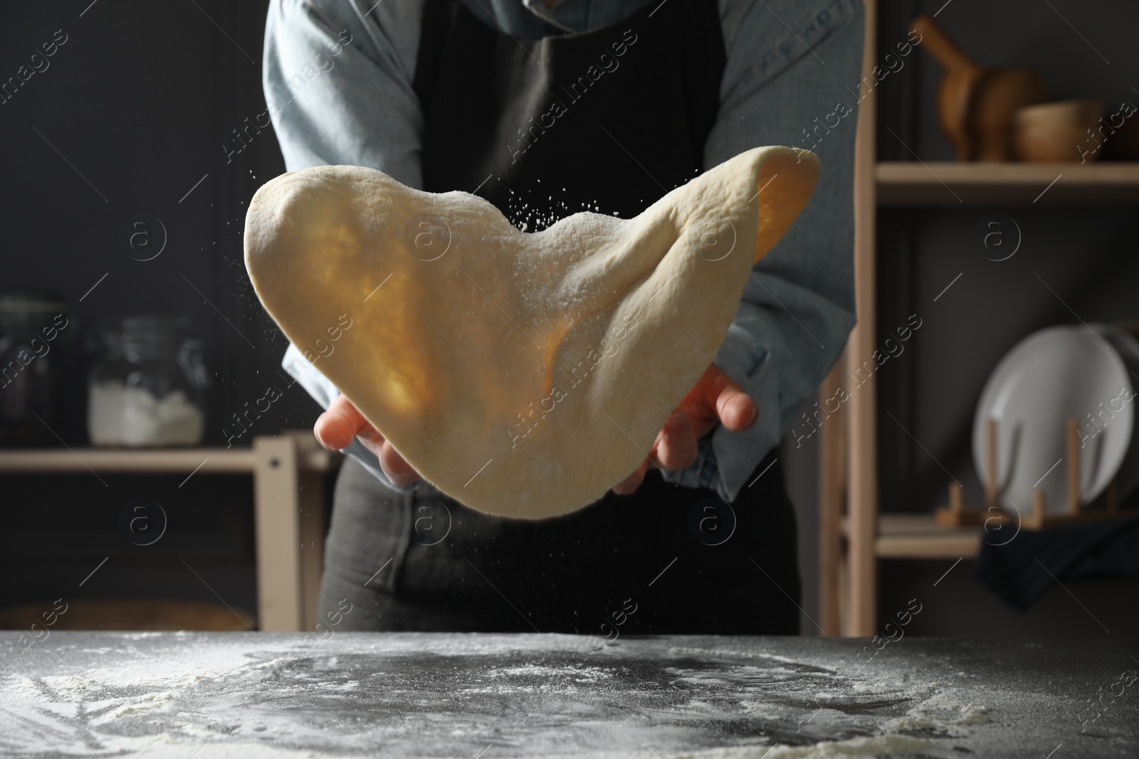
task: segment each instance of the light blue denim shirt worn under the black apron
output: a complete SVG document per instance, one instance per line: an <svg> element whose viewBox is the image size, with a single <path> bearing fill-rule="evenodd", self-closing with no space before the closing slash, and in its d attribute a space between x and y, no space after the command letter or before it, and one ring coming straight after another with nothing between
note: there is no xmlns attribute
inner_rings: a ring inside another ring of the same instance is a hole
<svg viewBox="0 0 1139 759"><path fill-rule="evenodd" d="M584 32L646 5L562 0L547 10L541 0L464 2L495 28L530 39L543 35L539 14ZM263 83L288 171L357 164L423 188L424 116L412 89L423 5L272 1ZM861 0L719 0L719 10L727 64L704 168L764 145L810 149L821 162L814 196L755 265L715 358L755 399L759 419L741 432L716 427L700 438L690 467L666 472L680 485L735 501L816 394L854 325L854 132L865 15ZM295 346L282 363L322 406L338 394ZM347 452L401 489L358 440Z"/></svg>

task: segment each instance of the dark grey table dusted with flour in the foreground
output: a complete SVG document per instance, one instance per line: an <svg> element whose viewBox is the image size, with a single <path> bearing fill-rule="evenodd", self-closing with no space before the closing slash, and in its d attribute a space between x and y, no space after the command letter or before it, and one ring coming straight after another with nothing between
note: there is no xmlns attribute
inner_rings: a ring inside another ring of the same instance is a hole
<svg viewBox="0 0 1139 759"><path fill-rule="evenodd" d="M51 633L0 665L0 754L1139 756L1136 641L597 643Z"/></svg>

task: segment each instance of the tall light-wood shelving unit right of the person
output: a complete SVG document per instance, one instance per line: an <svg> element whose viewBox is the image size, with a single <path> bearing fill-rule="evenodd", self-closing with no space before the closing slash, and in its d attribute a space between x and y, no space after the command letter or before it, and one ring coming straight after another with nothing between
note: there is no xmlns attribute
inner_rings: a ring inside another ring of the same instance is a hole
<svg viewBox="0 0 1139 759"><path fill-rule="evenodd" d="M876 64L877 0L866 0L863 75ZM819 390L834 396L847 369L876 347L876 216L879 207L1139 204L1139 163L877 163L876 90L861 102L854 147L854 296L858 323ZM929 514L878 513L877 376L820 428L819 622L841 635L877 625L879 559L975 558L983 527L949 527Z"/></svg>

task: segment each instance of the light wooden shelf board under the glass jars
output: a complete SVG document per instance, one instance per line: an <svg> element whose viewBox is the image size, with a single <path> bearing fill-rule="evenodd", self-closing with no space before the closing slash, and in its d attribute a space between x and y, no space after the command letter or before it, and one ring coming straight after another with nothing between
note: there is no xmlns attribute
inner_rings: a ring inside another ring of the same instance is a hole
<svg viewBox="0 0 1139 759"><path fill-rule="evenodd" d="M331 467L331 452L300 451L304 471L323 472ZM21 448L0 451L0 472L190 472L252 473L257 454L253 448Z"/></svg>

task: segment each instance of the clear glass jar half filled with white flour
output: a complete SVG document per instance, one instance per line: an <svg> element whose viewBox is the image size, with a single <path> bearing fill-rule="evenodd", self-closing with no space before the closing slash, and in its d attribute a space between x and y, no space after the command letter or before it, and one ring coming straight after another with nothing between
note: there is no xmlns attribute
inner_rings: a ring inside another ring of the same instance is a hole
<svg viewBox="0 0 1139 759"><path fill-rule="evenodd" d="M124 316L99 330L101 355L88 381L92 445L199 445L208 376L187 319Z"/></svg>

